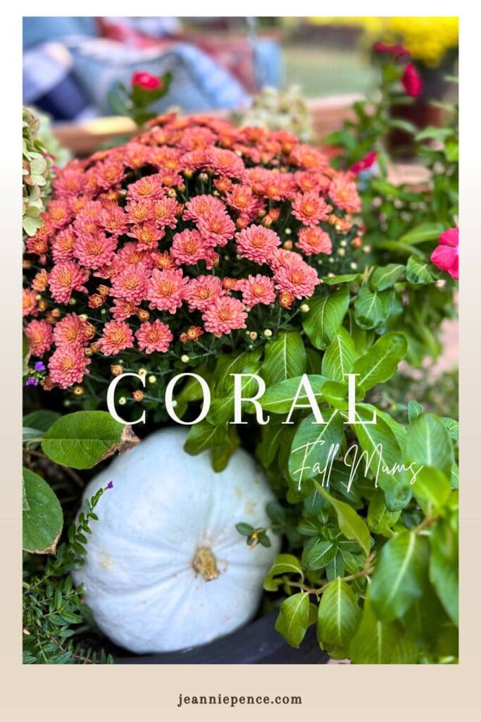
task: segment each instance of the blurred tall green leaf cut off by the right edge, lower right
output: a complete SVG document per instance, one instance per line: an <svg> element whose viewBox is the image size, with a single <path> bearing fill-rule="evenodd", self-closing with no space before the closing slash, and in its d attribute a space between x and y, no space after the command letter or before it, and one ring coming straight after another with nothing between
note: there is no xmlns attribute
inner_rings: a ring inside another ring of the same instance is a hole
<svg viewBox="0 0 481 722"><path fill-rule="evenodd" d="M429 539L429 578L441 604L455 625L459 624L458 538L449 523L439 520Z"/></svg>

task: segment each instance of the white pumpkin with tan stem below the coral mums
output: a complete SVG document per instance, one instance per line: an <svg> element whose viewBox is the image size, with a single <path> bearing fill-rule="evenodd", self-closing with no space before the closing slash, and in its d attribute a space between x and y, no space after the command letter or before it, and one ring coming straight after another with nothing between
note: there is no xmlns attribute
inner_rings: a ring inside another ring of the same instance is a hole
<svg viewBox="0 0 481 722"><path fill-rule="evenodd" d="M254 459L238 449L224 471L183 451L187 432L151 434L92 479L112 480L96 508L87 559L74 572L97 625L136 653L174 651L233 632L257 610L280 541L250 549L235 525L268 526L273 500Z"/></svg>

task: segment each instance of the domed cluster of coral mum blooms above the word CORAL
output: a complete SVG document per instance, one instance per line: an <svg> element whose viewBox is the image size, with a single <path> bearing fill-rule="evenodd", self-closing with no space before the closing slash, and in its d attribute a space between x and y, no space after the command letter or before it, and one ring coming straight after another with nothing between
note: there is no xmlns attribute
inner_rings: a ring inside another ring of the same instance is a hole
<svg viewBox="0 0 481 722"><path fill-rule="evenodd" d="M359 210L353 175L319 150L219 119L157 118L71 161L24 261L25 333L45 388L79 383L95 354L165 353L247 329L259 305L290 309Z"/></svg>

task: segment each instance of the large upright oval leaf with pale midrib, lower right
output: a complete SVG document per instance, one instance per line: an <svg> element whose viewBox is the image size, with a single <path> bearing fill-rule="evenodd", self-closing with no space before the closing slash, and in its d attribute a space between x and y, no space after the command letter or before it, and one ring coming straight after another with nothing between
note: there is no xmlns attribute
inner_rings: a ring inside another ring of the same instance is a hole
<svg viewBox="0 0 481 722"><path fill-rule="evenodd" d="M428 557L428 540L415 531L402 531L384 544L370 590L374 612L382 622L399 619L423 595Z"/></svg>

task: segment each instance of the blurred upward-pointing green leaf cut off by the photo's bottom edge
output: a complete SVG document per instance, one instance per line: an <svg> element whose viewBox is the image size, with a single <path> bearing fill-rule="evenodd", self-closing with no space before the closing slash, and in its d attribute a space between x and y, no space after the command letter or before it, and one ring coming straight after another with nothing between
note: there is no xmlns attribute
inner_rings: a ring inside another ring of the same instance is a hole
<svg viewBox="0 0 481 722"><path fill-rule="evenodd" d="M396 622L387 624L376 618L368 596L361 622L349 645L350 661L353 664L390 664L401 633Z"/></svg>

